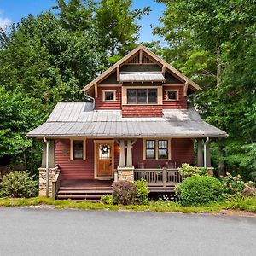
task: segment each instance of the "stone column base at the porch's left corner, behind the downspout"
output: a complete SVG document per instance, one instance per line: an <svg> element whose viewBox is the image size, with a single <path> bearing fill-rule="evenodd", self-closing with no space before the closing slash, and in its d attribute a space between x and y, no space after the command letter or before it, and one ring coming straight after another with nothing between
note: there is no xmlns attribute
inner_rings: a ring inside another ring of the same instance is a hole
<svg viewBox="0 0 256 256"><path fill-rule="evenodd" d="M46 196L46 168L39 168L39 195ZM55 179L55 175L60 172L58 167L49 168L49 197L52 196L52 182Z"/></svg>

